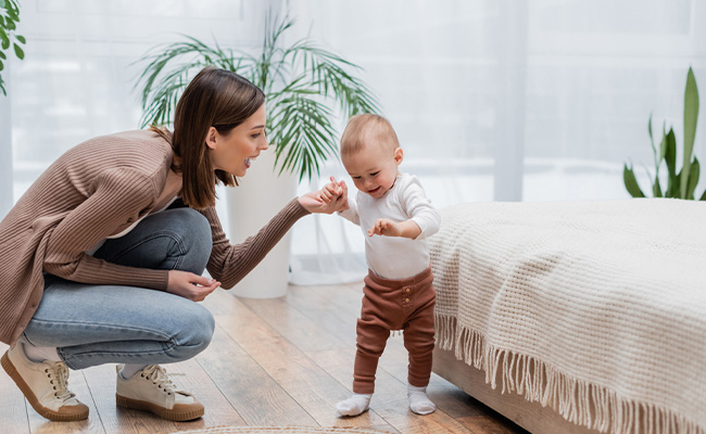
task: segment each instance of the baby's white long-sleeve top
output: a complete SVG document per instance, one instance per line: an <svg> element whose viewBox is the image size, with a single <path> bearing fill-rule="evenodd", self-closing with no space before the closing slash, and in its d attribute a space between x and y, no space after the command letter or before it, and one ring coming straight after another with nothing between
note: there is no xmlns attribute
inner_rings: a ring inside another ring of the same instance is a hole
<svg viewBox="0 0 706 434"><path fill-rule="evenodd" d="M398 175L392 188L380 199L357 192L355 202L349 197L350 208L340 216L358 225L365 237L365 258L368 268L384 279L405 279L429 267L427 237L439 230L441 217L431 206L421 183L415 176ZM402 237L368 237L378 218L392 221L413 220L421 233L411 240Z"/></svg>

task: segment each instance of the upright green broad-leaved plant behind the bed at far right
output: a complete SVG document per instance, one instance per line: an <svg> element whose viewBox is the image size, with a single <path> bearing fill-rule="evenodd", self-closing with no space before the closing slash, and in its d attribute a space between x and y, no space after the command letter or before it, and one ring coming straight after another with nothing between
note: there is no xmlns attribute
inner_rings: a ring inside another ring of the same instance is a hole
<svg viewBox="0 0 706 434"><path fill-rule="evenodd" d="M652 141L652 151L654 154L655 176L652 182L652 194L655 197L676 197L693 200L701 165L696 156L692 159L694 151L694 139L696 137L696 124L698 120L698 87L694 72L689 68L686 74L686 88L684 89L684 143L683 143L683 163L681 170L677 171L677 138L672 127L669 132L666 131L665 125L661 128L661 142L659 149L655 146L652 132L652 116L647 123L647 131ZM667 166L667 186L663 189L659 182L659 168L663 162ZM652 174L647 170L652 178ZM626 189L633 197L645 197L642 189L638 184L632 165L626 164L622 170L622 178ZM706 201L706 191L701 196L701 201Z"/></svg>

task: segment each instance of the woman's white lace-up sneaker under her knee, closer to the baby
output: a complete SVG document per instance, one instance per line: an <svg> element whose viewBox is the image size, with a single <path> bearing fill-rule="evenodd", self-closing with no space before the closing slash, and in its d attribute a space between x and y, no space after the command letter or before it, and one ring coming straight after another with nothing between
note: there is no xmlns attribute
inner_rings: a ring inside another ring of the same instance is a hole
<svg viewBox="0 0 706 434"><path fill-rule="evenodd" d="M187 421L203 416L203 405L188 392L177 391L166 370L150 365L130 379L117 366L115 399L119 407L151 411L162 419Z"/></svg>

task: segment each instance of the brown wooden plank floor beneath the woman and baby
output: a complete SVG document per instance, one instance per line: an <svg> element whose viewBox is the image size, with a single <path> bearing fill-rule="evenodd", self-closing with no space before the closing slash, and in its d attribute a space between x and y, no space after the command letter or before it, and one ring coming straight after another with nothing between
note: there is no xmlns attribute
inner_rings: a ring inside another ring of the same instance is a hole
<svg viewBox="0 0 706 434"><path fill-rule="evenodd" d="M88 420L49 422L0 370L0 433L172 433L216 425L356 426L390 433L524 433L432 374L437 411L407 408L406 350L391 337L380 359L370 411L336 416L349 397L361 284L290 286L286 298L237 298L217 290L204 305L216 318L211 346L167 366L173 381L206 408L202 419L169 422L115 406L114 365L72 371L71 390L90 407ZM2 344L0 344L2 345ZM5 346L0 347L4 352Z"/></svg>

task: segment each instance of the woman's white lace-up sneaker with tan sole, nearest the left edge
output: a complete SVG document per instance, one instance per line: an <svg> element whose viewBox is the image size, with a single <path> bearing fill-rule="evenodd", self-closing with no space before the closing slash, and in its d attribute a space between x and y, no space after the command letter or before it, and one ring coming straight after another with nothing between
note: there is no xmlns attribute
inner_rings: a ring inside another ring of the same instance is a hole
<svg viewBox="0 0 706 434"><path fill-rule="evenodd" d="M66 365L62 361L31 361L22 345L17 343L5 352L1 362L31 407L52 421L77 421L88 418L88 407L68 391Z"/></svg>

